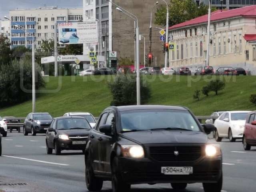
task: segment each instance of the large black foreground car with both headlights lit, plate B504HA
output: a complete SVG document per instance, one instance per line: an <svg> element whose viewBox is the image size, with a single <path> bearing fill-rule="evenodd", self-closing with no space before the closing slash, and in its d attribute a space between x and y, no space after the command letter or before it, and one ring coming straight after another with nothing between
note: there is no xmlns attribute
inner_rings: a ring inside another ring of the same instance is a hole
<svg viewBox="0 0 256 192"><path fill-rule="evenodd" d="M113 192L128 192L131 184L182 190L203 183L205 192L220 192L222 152L207 136L213 130L182 106L110 106L89 133L86 186L99 191L108 180Z"/></svg>

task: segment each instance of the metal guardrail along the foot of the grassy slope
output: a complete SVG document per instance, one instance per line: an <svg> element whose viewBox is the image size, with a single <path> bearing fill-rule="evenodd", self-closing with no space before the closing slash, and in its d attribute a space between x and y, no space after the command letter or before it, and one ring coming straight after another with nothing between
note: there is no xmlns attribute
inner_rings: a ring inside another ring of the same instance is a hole
<svg viewBox="0 0 256 192"><path fill-rule="evenodd" d="M206 119L212 119L212 122L215 121L215 119L217 119L218 117L215 116L196 116L196 118L199 120L199 122L202 124L205 122ZM25 120L25 118L21 117L21 118L6 118L6 120L13 120L13 119L17 119L17 120ZM98 120L98 117L95 118L96 120ZM20 133L20 128L23 128L23 122L18 122L18 123L7 123L7 128L10 129L10 133L12 132L13 129L16 129L19 133Z"/></svg>

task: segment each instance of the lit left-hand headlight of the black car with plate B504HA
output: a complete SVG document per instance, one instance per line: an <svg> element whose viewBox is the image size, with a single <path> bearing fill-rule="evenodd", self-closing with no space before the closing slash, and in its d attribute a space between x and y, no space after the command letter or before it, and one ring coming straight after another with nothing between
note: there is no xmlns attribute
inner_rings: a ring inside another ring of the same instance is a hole
<svg viewBox="0 0 256 192"><path fill-rule="evenodd" d="M144 150L140 145L122 145L121 150L124 157L144 158Z"/></svg>

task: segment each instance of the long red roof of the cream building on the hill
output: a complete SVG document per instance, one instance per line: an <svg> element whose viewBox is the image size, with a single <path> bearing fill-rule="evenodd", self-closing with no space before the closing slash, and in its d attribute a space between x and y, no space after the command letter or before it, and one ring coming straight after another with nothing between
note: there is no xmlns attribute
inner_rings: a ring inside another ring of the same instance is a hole
<svg viewBox="0 0 256 192"><path fill-rule="evenodd" d="M232 17L246 17L246 16L253 16L256 17L256 5L252 6L245 6L241 8L236 8L236 9L230 9L230 10L216 10L211 13L210 20L215 21L215 20L224 20L227 18L232 18ZM176 29L176 28L183 28L185 26L190 26L190 25L195 25L195 24L202 24L202 23L208 23L208 14L204 16L200 16L198 18L194 18L192 20L174 25L169 27L169 30Z"/></svg>

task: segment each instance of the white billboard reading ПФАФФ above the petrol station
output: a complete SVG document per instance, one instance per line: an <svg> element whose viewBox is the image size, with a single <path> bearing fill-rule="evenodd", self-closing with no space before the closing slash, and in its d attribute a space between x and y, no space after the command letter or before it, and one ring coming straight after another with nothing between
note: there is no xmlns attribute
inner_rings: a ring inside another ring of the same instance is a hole
<svg viewBox="0 0 256 192"><path fill-rule="evenodd" d="M59 44L98 42L98 22L59 23Z"/></svg>

